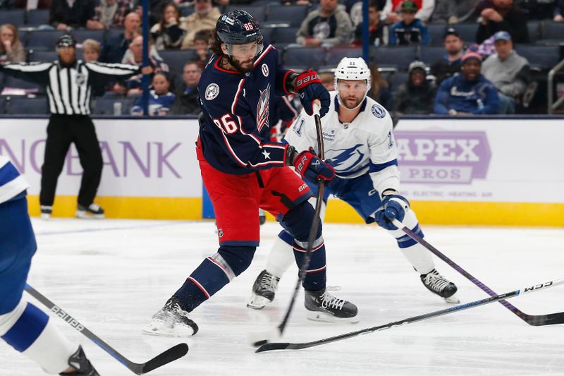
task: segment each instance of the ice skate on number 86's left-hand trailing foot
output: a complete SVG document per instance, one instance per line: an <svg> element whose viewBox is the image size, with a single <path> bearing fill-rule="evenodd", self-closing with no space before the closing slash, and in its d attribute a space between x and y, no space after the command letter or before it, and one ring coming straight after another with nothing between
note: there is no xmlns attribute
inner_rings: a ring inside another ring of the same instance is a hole
<svg viewBox="0 0 564 376"><path fill-rule="evenodd" d="M188 312L180 305L180 299L173 296L153 315L142 332L153 336L193 336L198 332L198 326L188 318Z"/></svg>

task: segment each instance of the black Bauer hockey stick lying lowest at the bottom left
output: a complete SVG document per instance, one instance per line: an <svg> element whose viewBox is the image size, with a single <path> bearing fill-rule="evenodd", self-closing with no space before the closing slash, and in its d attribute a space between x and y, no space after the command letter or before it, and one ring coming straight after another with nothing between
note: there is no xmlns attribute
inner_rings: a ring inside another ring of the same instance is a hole
<svg viewBox="0 0 564 376"><path fill-rule="evenodd" d="M178 358L182 358L183 356L186 355L186 353L188 353L187 344L178 344L176 346L168 348L168 350L164 351L164 353L160 353L159 355L155 356L148 362L133 363L131 360L121 355L121 353L118 353L118 351L116 351L115 348L111 347L109 344L106 344L106 342L102 341L102 339L100 339L99 336L90 332L90 330L87 329L87 327L80 324L78 320L76 320L74 317L66 313L66 311L59 308L58 305L56 305L52 301L49 301L48 298L42 295L42 293L39 293L39 291L34 289L29 284L25 284L25 291L27 291L27 293L29 293L31 296L33 296L38 301L40 301L43 305L49 308L49 310L52 313L61 317L61 319L65 320L68 325L71 325L71 327L78 330L78 332L84 334L84 336L86 336L88 339L94 342L94 344L97 344L99 347L101 347L102 350L106 351L106 353L109 353L111 356L113 356L116 360L118 360L119 363L129 368L131 372L135 373L136 375L144 375L147 372L151 372L155 368L161 367L161 365L165 365L166 363L171 363L172 361Z"/></svg>

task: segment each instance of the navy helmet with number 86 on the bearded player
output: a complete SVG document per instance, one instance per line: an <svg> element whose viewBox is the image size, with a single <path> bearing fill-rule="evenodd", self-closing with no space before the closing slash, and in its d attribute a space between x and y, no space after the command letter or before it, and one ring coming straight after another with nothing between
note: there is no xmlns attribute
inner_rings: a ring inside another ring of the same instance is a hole
<svg viewBox="0 0 564 376"><path fill-rule="evenodd" d="M223 13L217 20L216 32L219 40L228 45L262 43L259 23L242 9Z"/></svg>

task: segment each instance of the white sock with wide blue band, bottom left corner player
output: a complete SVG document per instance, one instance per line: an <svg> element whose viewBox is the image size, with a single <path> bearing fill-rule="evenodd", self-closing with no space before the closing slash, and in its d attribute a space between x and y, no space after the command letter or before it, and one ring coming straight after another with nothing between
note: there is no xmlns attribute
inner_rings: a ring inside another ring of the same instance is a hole
<svg viewBox="0 0 564 376"><path fill-rule="evenodd" d="M51 374L66 370L68 358L78 348L51 323L49 316L24 301L10 313L0 315L0 336Z"/></svg>

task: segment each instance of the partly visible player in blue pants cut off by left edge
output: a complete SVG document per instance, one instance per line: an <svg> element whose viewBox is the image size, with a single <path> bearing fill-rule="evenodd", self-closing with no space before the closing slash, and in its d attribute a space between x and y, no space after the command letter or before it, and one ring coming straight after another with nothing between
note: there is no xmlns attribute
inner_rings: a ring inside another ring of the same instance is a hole
<svg viewBox="0 0 564 376"><path fill-rule="evenodd" d="M47 373L99 376L82 347L63 336L49 316L23 299L37 248L27 214L26 189L23 176L0 155L0 338Z"/></svg>

